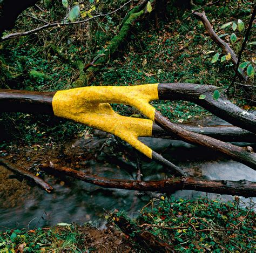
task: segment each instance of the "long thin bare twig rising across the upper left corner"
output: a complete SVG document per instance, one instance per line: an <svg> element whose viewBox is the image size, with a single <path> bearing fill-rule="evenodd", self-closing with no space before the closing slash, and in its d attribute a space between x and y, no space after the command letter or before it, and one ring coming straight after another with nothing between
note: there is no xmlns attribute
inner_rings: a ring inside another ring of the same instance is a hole
<svg viewBox="0 0 256 253"><path fill-rule="evenodd" d="M11 33L10 35L3 36L3 37L2 37L2 41L8 40L8 39L11 39L11 38L16 38L16 37L22 37L22 36L30 35L30 34L32 34L32 33L35 33L35 32L41 31L41 30L44 30L44 29L46 29L46 28L52 28L52 27L55 27L55 26L65 26L65 25L82 24L82 23L88 22L89 20L94 19L94 18L109 16L109 15L112 15L113 13L119 11L120 9L123 9L124 6L126 6L127 4L129 4L129 3L131 3L131 2L132 2L132 1L130 0L130 1L126 2L125 4L123 4L122 6L120 6L120 8L118 8L118 9L116 9L116 10L114 10L114 11L111 11L111 12L109 12L109 13L106 13L106 14L99 14L99 15L93 16L93 17L91 17L91 18L87 18L87 19L80 20L80 21L77 21L77 22L70 22L70 23L65 23L65 22L63 22L63 23L62 23L62 22L52 22L52 23L39 26L38 28L29 30L29 31L26 31L26 32Z"/></svg>

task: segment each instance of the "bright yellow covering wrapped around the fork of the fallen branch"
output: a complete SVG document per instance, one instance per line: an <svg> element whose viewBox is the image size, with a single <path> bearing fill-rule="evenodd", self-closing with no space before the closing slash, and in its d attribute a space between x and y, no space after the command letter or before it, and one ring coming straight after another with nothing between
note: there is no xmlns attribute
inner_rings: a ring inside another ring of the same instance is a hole
<svg viewBox="0 0 256 253"><path fill-rule="evenodd" d="M157 87L158 84L93 86L58 91L52 100L53 112L58 117L114 134L152 158L151 148L140 142L138 137L152 134L156 110L149 101L158 99ZM107 103L134 106L151 120L121 116Z"/></svg>

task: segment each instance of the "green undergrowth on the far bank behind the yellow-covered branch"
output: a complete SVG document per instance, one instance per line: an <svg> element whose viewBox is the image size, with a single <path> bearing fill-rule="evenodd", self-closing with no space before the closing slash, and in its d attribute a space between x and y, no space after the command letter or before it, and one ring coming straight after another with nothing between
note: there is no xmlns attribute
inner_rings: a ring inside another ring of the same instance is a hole
<svg viewBox="0 0 256 253"><path fill-rule="evenodd" d="M107 1L105 4L100 2L98 8L103 12L110 7L114 10L118 5L116 2ZM193 6L193 9L205 4L204 1L194 3L197 5ZM232 32L221 29L221 25L227 22L237 21L239 18L247 24L253 3L229 1L225 6L224 8L224 5L209 5L204 8L207 18L219 36ZM55 15L59 15L60 10L61 8ZM43 13L39 10L33 11L38 16L43 15L42 18L49 18L49 13L53 15L52 10ZM0 64L3 62L2 66L8 65L7 87L56 91L72 88L73 84L82 85L80 83L81 80L83 83L85 76L83 72L79 72L79 69L82 69L81 63L90 63L98 53L112 46L109 42L122 28L127 11L129 11L128 5L112 16L92 20L86 25L54 28L48 32L39 32L2 43L0 50L4 60L1 58ZM57 17L53 15L51 18ZM18 20L18 25L28 30L33 22L33 19L23 17ZM255 36L254 30L252 38ZM242 37L242 34L238 35L234 47L236 53L240 50ZM230 43L228 36L222 39ZM247 48L242 61L248 60L254 63L253 45L247 45ZM221 50L207 35L203 23L191 15L191 10L180 9L172 4L162 9L160 6L156 15L152 12L144 20L138 19L132 26L129 36L123 38L122 46L116 52L112 53L109 50L107 54L109 61L104 65L97 65L96 69L100 71L94 74L89 85L122 86L180 82L225 88L232 80L233 66L231 61L212 63L215 52L221 52ZM103 59L99 59L99 64L100 60ZM4 72L0 68L1 71ZM2 87L6 88L3 85ZM240 106L246 105L246 100L240 100L243 91L238 89L236 92L238 97L234 97L234 102ZM154 101L153 106L173 122L193 121L193 119L210 115L200 106L186 101ZM126 106L123 105L113 107L122 115L140 115L136 110L127 112ZM61 120L53 119L50 121L56 122L56 125L48 125L48 117L45 119L40 117L36 120L33 115L21 116L21 118L9 115L9 117L4 116L0 122L0 128L11 130L10 132L18 136L15 139L21 140L26 145L48 142L51 135L60 136L61 141L71 136L65 133L76 134L77 129L83 128L78 124L63 124L63 120L60 123ZM38 135L32 130L26 131L32 127L36 129L36 133L39 132ZM41 133L44 133L44 139L41 138ZM58 141L58 138L55 139Z"/></svg>

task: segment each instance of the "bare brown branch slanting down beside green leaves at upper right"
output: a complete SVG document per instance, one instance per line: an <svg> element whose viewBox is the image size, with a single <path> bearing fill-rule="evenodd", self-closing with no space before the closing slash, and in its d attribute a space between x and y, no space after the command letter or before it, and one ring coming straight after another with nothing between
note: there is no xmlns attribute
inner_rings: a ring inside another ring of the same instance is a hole
<svg viewBox="0 0 256 253"><path fill-rule="evenodd" d="M228 45L226 42L224 42L221 38L219 38L219 36L214 32L211 23L209 22L209 20L207 19L205 12L193 12L193 15L197 16L201 22L203 22L206 31L208 32L208 35L211 37L211 39L218 45L221 47L221 49L223 49L223 51L225 51L226 53L230 53L231 54L231 60L233 61L234 67L237 66L238 64L238 58L236 56L236 54L234 53L234 51L231 49L230 45ZM244 72L244 70L239 68L238 71L238 77L241 81L247 81L247 76Z"/></svg>

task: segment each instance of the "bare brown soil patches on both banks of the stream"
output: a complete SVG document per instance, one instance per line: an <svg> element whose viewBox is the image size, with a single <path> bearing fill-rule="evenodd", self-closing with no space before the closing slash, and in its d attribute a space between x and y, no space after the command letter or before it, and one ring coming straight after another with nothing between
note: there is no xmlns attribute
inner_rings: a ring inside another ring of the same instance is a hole
<svg viewBox="0 0 256 253"><path fill-rule="evenodd" d="M103 134L103 135L102 135ZM73 168L79 167L79 164L87 159L92 159L95 155L95 149L99 149L104 145L104 142L110 136L104 133L98 133L97 137L87 136L86 138L78 138L66 142L63 145L33 145L33 146L19 146L10 147L8 151L1 150L0 155L17 166L29 170L36 174L38 172L38 165L45 162L53 162L63 166L71 166ZM96 138L96 139L95 139ZM88 149L93 142L93 150ZM52 176L46 175L45 181L48 181ZM62 183L62 182L58 182ZM4 166L0 166L0 199L1 206L4 208L15 207L25 201L27 196L31 196L31 182L18 175L14 175L10 170ZM54 187L54 184L53 184ZM36 191L35 191L36 194ZM22 197L21 197L22 196ZM58 229L62 229L58 227ZM89 226L79 226L78 231L83 236L83 243L90 252L137 252L133 249L133 245L129 238L122 232L114 228L114 225L107 224L107 228L99 230ZM83 245L80 245L84 248ZM79 247L78 247L79 248Z"/></svg>

